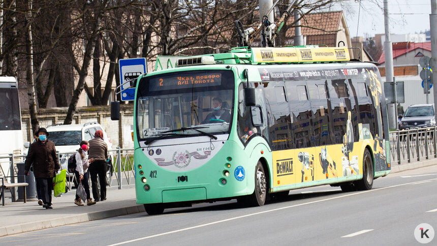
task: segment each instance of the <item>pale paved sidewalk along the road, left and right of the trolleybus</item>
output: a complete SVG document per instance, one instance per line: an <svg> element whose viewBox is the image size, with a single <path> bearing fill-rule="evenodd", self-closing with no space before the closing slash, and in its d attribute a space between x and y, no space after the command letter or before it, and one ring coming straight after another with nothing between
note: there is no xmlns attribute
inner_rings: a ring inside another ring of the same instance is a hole
<svg viewBox="0 0 437 246"><path fill-rule="evenodd" d="M409 164L392 164L392 173L436 165L437 159ZM53 209L44 209L36 201L11 202L6 192L5 206L0 205L0 236L41 230L79 222L101 220L109 217L144 212L144 206L136 204L134 185L107 187L107 200L92 206L74 204L76 190L61 197L53 197Z"/></svg>

